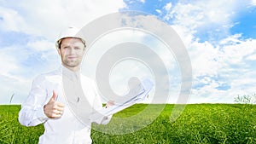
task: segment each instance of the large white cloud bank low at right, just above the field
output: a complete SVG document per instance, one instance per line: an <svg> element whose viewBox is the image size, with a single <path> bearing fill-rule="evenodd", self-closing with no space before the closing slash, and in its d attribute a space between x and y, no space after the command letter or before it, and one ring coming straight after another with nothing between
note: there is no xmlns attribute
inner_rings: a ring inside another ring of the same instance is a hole
<svg viewBox="0 0 256 144"><path fill-rule="evenodd" d="M194 84L191 103L201 101L232 103L237 95L255 93L256 66L247 60L255 58L255 39L239 40L230 36L224 45L213 47L210 43L192 43L189 49L193 65ZM232 42L230 42L232 41ZM235 43L236 42L236 43ZM238 43L239 42L239 43ZM218 89L222 84L230 88Z"/></svg>

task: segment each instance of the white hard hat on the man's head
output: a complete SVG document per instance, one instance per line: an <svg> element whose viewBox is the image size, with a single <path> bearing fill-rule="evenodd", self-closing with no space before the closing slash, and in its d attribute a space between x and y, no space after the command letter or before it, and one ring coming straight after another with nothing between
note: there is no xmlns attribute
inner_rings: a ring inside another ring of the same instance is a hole
<svg viewBox="0 0 256 144"><path fill-rule="evenodd" d="M81 34L79 34L79 29L74 26L69 26L67 27L66 30L61 32L60 36L56 40L55 46L57 49L60 48L61 40L67 37L79 38L81 39L81 41L84 43L84 46L85 46L84 37Z"/></svg>

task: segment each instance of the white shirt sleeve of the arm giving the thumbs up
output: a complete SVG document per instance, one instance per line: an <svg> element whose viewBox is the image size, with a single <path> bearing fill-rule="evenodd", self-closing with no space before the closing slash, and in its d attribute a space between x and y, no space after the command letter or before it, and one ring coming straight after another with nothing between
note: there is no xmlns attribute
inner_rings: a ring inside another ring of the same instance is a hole
<svg viewBox="0 0 256 144"><path fill-rule="evenodd" d="M25 126L35 126L44 123L48 118L44 114L44 104L47 99L45 80L43 76L35 78L32 89L26 101L21 105L19 122Z"/></svg>

